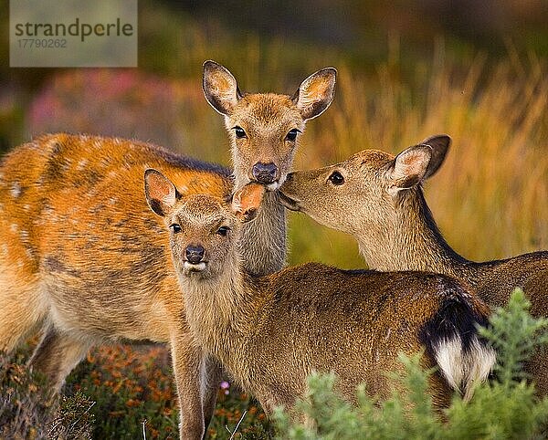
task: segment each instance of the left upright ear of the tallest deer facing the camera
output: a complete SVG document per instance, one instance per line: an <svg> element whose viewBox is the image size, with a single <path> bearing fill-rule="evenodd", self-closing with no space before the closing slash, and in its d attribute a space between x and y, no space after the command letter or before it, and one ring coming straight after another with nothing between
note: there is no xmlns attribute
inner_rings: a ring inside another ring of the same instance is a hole
<svg viewBox="0 0 548 440"><path fill-rule="evenodd" d="M202 88L207 102L223 115L228 115L242 97L236 79L228 69L211 60L204 63Z"/></svg>

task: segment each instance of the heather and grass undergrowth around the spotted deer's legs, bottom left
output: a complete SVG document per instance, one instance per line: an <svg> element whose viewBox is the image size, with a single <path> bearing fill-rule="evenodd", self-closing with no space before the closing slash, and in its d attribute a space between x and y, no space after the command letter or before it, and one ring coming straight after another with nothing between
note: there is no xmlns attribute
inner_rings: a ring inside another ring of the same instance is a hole
<svg viewBox="0 0 548 440"><path fill-rule="evenodd" d="M68 376L64 396L51 399L46 382L26 368L34 343L0 353L0 438L177 439L178 410L171 359L162 346L105 346ZM210 439L268 438L262 409L235 384L219 387Z"/></svg>

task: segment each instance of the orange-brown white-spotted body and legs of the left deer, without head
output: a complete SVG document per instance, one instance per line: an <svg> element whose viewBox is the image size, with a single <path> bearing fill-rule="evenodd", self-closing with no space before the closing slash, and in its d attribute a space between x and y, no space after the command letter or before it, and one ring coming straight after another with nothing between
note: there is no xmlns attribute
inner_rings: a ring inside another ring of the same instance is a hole
<svg viewBox="0 0 548 440"><path fill-rule="evenodd" d="M165 264L168 236L142 200L149 166L191 193L226 197L232 190L227 170L135 141L48 135L5 156L0 349L11 351L43 330L31 365L57 390L93 344L168 342L182 397L181 433L200 438L201 414L213 410L203 402L215 403L216 387L200 382L206 365Z"/></svg>

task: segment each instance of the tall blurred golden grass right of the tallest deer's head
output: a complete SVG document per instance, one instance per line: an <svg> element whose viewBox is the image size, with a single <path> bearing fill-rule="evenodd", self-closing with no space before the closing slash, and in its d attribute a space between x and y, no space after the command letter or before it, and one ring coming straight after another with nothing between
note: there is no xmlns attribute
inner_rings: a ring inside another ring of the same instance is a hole
<svg viewBox="0 0 548 440"><path fill-rule="evenodd" d="M527 63L487 68L478 56L456 71L440 54L417 66L412 83L395 79L388 64L374 78L339 68L335 103L303 137L296 167L366 148L397 153L445 132L453 144L426 195L448 243L477 261L546 249L548 76L539 59ZM363 265L352 240L302 216L292 216L293 263Z"/></svg>

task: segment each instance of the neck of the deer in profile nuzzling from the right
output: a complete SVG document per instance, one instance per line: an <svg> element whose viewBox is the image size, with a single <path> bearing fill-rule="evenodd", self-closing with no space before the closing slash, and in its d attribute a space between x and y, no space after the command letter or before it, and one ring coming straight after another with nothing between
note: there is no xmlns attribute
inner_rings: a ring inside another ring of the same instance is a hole
<svg viewBox="0 0 548 440"><path fill-rule="evenodd" d="M376 234L358 238L360 253L377 270L423 270L461 277L469 263L445 241L420 188L395 201L395 215ZM367 231L364 225L363 230Z"/></svg>

